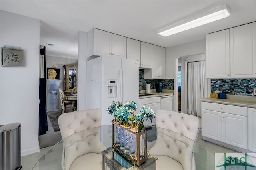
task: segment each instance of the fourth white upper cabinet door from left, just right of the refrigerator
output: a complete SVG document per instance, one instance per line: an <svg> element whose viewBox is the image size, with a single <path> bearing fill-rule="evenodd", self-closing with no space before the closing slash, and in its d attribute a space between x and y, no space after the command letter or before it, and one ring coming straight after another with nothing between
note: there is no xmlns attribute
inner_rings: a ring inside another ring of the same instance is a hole
<svg viewBox="0 0 256 170"><path fill-rule="evenodd" d="M140 67L152 68L152 44L140 43Z"/></svg>

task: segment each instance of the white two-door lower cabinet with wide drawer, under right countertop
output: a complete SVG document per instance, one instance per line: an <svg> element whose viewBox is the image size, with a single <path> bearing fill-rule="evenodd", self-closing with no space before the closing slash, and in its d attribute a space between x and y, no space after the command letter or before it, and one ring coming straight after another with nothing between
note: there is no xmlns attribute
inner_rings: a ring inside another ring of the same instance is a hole
<svg viewBox="0 0 256 170"><path fill-rule="evenodd" d="M202 102L202 136L248 150L247 107Z"/></svg>

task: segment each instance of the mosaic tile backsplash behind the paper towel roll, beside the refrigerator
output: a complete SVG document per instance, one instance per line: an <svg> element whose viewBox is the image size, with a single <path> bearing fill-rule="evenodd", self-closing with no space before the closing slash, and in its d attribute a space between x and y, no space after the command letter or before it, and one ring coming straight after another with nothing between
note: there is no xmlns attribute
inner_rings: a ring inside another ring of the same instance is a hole
<svg viewBox="0 0 256 170"><path fill-rule="evenodd" d="M162 83L162 89L173 90L173 79L144 79L144 69L139 69L139 89L146 90L146 84L150 84L150 89L157 83Z"/></svg>

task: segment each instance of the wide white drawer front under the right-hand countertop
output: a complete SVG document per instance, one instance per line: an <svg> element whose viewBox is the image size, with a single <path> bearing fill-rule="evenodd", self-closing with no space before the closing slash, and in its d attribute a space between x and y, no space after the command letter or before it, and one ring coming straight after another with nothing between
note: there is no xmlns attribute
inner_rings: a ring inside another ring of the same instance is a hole
<svg viewBox="0 0 256 170"><path fill-rule="evenodd" d="M247 107L202 102L202 109L247 116Z"/></svg>

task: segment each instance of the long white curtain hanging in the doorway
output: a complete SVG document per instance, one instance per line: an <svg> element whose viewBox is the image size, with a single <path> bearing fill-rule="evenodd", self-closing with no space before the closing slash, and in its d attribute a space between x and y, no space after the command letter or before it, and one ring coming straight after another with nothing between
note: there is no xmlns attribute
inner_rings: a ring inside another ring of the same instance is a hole
<svg viewBox="0 0 256 170"><path fill-rule="evenodd" d="M204 98L204 61L188 63L188 114L201 117Z"/></svg>

